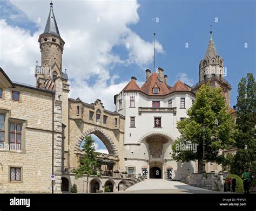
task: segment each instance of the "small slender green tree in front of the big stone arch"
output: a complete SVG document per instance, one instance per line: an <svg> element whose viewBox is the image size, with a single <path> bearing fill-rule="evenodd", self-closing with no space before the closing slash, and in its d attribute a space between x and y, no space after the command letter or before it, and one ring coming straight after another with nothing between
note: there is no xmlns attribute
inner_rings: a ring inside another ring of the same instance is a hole
<svg viewBox="0 0 256 211"><path fill-rule="evenodd" d="M95 151L95 146L93 143L95 140L91 136L86 136L84 139L84 145L82 151L84 152L83 156L79 159L79 167L73 172L76 173L76 179L83 177L83 174L87 175L86 182L86 193L88 193L88 183L89 177L91 174L95 173L97 167L96 156L99 156L99 152Z"/></svg>

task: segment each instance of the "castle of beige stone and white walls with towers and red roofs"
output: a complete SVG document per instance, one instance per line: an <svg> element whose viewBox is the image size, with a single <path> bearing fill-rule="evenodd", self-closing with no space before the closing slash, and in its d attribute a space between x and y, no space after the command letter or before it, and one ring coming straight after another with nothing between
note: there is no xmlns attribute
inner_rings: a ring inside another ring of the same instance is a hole
<svg viewBox="0 0 256 211"><path fill-rule="evenodd" d="M163 68L152 73L146 69L142 87L132 77L114 96L113 112L100 100L89 104L68 97L69 78L62 66L65 42L52 3L38 42L42 57L36 86L11 81L0 68L0 192L61 193L74 183L78 192L85 192L84 178L76 180L71 170L78 167L80 145L90 134L109 151L97 157L103 175L90 177L90 192L106 185L117 192L142 176L178 179L197 170L195 162L174 161L171 145L179 137L177 121L187 117L201 85L221 87L230 104L231 85L223 78L224 60L212 32L195 86L178 80L171 87ZM215 170L220 170L217 164L206 165L206 171Z"/></svg>

